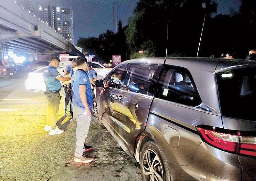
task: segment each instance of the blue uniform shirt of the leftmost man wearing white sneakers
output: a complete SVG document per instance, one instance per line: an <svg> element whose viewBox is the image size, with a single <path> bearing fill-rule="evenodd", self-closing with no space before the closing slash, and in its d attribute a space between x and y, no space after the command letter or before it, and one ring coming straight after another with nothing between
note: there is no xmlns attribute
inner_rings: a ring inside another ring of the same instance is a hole
<svg viewBox="0 0 256 181"><path fill-rule="evenodd" d="M57 79L61 75L60 73L52 66L48 65L44 70L44 83L46 85L47 93L57 93L61 89L60 81Z"/></svg>

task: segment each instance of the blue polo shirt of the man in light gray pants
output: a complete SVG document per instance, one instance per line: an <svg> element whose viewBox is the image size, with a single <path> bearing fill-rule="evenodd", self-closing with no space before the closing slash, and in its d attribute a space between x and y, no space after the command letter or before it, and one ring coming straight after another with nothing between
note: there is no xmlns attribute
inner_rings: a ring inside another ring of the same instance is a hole
<svg viewBox="0 0 256 181"><path fill-rule="evenodd" d="M79 94L79 85L86 86L86 98L89 109L92 111L92 104L93 104L93 93L91 89L91 82L86 72L82 69L77 69L76 72L71 77L71 85L73 91L73 102L74 104L81 108L85 109L83 102L81 101L80 94Z"/></svg>

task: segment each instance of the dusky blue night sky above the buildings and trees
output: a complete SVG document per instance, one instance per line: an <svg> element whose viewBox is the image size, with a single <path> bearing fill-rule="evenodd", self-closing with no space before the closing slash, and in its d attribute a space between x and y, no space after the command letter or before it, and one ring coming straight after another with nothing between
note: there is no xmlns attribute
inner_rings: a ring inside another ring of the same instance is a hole
<svg viewBox="0 0 256 181"><path fill-rule="evenodd" d="M79 37L98 37L107 29L116 32L116 0L16 0L20 4L71 6L73 10L74 43ZM113 2L114 15L113 15ZM123 26L133 15L133 9L139 0L118 0L118 20L122 20ZM217 14L229 14L230 9L239 11L240 0L215 0L218 3ZM113 19L114 28L113 28Z"/></svg>

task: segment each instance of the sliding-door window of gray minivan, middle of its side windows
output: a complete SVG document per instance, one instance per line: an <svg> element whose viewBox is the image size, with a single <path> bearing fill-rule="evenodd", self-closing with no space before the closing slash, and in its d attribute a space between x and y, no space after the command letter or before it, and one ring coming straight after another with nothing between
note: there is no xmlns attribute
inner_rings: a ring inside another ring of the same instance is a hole
<svg viewBox="0 0 256 181"><path fill-rule="evenodd" d="M132 64L128 72L124 90L149 94L148 89L157 65Z"/></svg>

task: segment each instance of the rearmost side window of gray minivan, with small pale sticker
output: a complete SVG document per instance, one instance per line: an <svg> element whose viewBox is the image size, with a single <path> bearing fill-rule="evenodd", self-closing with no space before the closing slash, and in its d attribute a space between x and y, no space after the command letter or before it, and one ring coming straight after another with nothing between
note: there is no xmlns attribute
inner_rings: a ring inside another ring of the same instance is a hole
<svg viewBox="0 0 256 181"><path fill-rule="evenodd" d="M159 80L158 98L188 106L202 103L190 72L182 67L165 65Z"/></svg>

